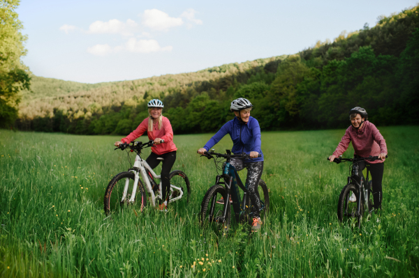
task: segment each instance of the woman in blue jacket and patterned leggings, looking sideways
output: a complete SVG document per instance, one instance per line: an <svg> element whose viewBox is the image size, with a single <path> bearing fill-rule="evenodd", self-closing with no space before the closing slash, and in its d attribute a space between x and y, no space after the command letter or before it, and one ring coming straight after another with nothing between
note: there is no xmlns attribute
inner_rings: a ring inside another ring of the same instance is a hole
<svg viewBox="0 0 419 278"><path fill-rule="evenodd" d="M203 155L205 151L210 150L212 146L223 139L226 134L230 134L230 137L233 140L233 148L231 151L235 154L247 153L252 157L252 159L249 160L233 158L230 160L230 164L233 165L237 171L247 168L246 183L248 185L251 203L255 206L251 229L252 231L258 231L262 222L260 221L259 215L260 199L257 190L260 176L262 176L263 171L263 153L262 150L260 150L262 141L260 140L259 123L256 118L250 116L251 107L253 107L253 105L245 98L233 100L233 102L231 102L230 110L234 112L235 118L223 125L210 141L207 141L207 144L198 150L198 153ZM262 155L262 157L258 157L258 154Z"/></svg>

